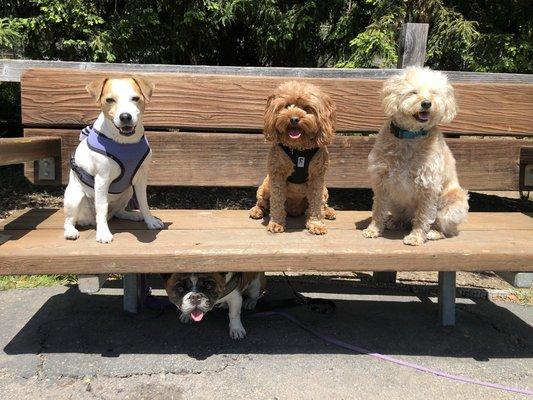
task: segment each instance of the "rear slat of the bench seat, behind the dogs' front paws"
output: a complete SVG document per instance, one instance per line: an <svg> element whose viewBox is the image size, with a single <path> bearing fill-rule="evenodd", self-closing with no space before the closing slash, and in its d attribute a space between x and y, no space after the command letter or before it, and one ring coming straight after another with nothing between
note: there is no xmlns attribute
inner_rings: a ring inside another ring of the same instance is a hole
<svg viewBox="0 0 533 400"><path fill-rule="evenodd" d="M265 229L260 221L248 217L247 210L152 210L153 214L166 223L167 230L202 229ZM370 218L370 211L340 211L338 218L328 221L330 230L354 230ZM15 212L10 218L0 221L0 229L62 229L64 215L62 210L33 208ZM287 226L296 229L303 226L303 218L289 218ZM112 219L112 231L145 230L143 223ZM461 225L462 231L532 231L533 213L519 212L472 212Z"/></svg>

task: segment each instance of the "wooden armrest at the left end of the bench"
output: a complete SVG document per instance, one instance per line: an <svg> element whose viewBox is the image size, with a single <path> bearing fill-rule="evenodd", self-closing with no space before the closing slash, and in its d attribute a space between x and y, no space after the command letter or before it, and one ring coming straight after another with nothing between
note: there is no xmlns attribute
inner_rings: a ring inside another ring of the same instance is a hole
<svg viewBox="0 0 533 400"><path fill-rule="evenodd" d="M61 154L58 137L26 137L0 139L0 165L22 164Z"/></svg>

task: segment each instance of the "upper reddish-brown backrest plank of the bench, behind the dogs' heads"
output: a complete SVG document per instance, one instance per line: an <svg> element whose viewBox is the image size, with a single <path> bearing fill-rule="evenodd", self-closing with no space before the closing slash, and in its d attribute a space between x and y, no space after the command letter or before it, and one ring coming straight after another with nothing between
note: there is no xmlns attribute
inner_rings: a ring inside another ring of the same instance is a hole
<svg viewBox="0 0 533 400"><path fill-rule="evenodd" d="M22 121L27 126L81 126L99 113L85 85L106 72L29 70L22 81ZM149 128L261 131L267 97L286 78L152 74L156 91L145 115ZM337 103L340 132L374 132L383 123L382 81L303 78ZM533 135L533 85L455 85L459 114L445 132Z"/></svg>

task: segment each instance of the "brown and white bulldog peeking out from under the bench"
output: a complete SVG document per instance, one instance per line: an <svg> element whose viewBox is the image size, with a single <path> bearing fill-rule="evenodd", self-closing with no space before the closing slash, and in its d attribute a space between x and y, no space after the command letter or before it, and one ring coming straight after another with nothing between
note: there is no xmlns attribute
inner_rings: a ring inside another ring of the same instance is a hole
<svg viewBox="0 0 533 400"><path fill-rule="evenodd" d="M246 336L241 307L254 309L266 286L264 272L174 273L162 277L169 300L181 311L181 322L200 322L215 305L227 307L232 339Z"/></svg>

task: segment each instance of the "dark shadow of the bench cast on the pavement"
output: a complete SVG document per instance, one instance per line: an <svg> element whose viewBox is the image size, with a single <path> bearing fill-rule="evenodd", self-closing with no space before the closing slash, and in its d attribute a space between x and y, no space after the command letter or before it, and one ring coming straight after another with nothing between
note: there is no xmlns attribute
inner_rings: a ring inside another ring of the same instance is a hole
<svg viewBox="0 0 533 400"><path fill-rule="evenodd" d="M273 277L274 278L274 277ZM490 301L458 304L457 326L439 325L437 305L413 294L388 298L383 292L338 284L334 276L297 283L297 289L329 293L337 309L322 315L305 307L289 312L317 331L373 352L397 355L533 358L533 327L507 308ZM118 281L120 283L120 281ZM111 282L111 286L117 282ZM374 296L368 294L373 292ZM335 293L331 295L331 293ZM291 296L286 282L269 279L269 300ZM84 295L77 287L51 297L5 346L7 354L85 353L187 354L206 359L214 354L335 354L327 345L280 317L250 318L248 337L232 341L227 311L213 310L199 324L179 323L174 310L145 310L137 316L122 311L119 295Z"/></svg>

